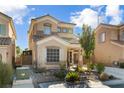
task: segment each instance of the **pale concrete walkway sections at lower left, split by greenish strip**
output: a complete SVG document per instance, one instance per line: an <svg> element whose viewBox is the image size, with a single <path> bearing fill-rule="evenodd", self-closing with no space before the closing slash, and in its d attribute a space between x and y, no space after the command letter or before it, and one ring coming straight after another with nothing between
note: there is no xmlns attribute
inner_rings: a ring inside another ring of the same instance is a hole
<svg viewBox="0 0 124 93"><path fill-rule="evenodd" d="M18 67L17 69L23 70L23 69L30 69L30 68L29 67ZM12 88L34 88L31 76L29 79L25 79L25 80L14 80Z"/></svg>

